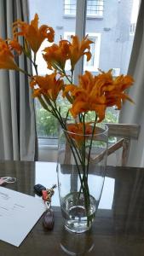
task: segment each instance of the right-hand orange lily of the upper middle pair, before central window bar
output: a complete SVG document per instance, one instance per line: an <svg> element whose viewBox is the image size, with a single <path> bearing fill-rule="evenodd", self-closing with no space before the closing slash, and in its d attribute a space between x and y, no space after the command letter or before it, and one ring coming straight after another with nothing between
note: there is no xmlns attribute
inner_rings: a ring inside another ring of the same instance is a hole
<svg viewBox="0 0 144 256"><path fill-rule="evenodd" d="M74 66L78 62L81 56L86 55L87 61L91 58L90 53L90 45L93 44L91 40L89 40L88 35L82 40L82 42L79 42L78 36L71 36L72 43L70 44L70 60L71 60L71 66L72 70L74 69Z"/></svg>

